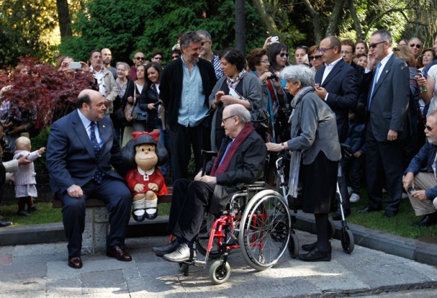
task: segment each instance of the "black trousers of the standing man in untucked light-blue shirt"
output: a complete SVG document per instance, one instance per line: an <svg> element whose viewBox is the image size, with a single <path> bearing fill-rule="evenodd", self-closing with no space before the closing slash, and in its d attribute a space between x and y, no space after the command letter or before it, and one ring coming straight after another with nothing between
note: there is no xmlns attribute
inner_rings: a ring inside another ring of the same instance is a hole
<svg viewBox="0 0 437 298"><path fill-rule="evenodd" d="M171 181L173 183L180 178L187 178L191 147L193 147L196 173L203 167L203 156L200 155L200 151L209 150L211 147L207 146L210 143L209 132L209 128L203 123L189 127L178 124L170 129Z"/></svg>

